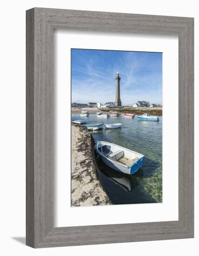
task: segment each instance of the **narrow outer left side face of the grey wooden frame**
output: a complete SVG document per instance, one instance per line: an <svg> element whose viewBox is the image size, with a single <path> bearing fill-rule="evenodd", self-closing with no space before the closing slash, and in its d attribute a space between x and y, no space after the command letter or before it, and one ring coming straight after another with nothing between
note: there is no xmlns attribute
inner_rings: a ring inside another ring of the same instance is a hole
<svg viewBox="0 0 199 256"><path fill-rule="evenodd" d="M26 17L26 237L34 246L34 10Z"/></svg>

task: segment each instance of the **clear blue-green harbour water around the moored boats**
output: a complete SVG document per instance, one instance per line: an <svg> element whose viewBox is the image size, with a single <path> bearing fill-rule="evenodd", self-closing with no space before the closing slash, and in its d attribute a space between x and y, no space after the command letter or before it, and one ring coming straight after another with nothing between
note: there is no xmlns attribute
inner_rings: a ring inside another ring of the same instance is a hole
<svg viewBox="0 0 199 256"><path fill-rule="evenodd" d="M122 128L91 131L95 141L109 141L145 155L142 167L134 175L108 168L97 159L102 185L113 204L162 202L162 117L159 122L140 121L124 115L99 118L96 114L72 119L88 122L122 123Z"/></svg>

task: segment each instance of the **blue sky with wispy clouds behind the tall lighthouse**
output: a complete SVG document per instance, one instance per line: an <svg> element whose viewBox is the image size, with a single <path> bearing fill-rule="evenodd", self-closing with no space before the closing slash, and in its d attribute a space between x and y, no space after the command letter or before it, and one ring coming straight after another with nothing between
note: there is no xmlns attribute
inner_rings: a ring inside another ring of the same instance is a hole
<svg viewBox="0 0 199 256"><path fill-rule="evenodd" d="M114 102L119 72L122 105L162 104L161 53L72 49L71 68L72 102Z"/></svg>

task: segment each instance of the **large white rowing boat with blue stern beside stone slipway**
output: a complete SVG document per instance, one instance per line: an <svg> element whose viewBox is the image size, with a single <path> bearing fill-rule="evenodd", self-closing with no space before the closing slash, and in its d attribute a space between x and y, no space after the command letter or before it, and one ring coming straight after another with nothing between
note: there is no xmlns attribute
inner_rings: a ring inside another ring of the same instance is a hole
<svg viewBox="0 0 199 256"><path fill-rule="evenodd" d="M126 174L137 172L145 159L144 155L106 141L97 141L95 148L107 166Z"/></svg>

